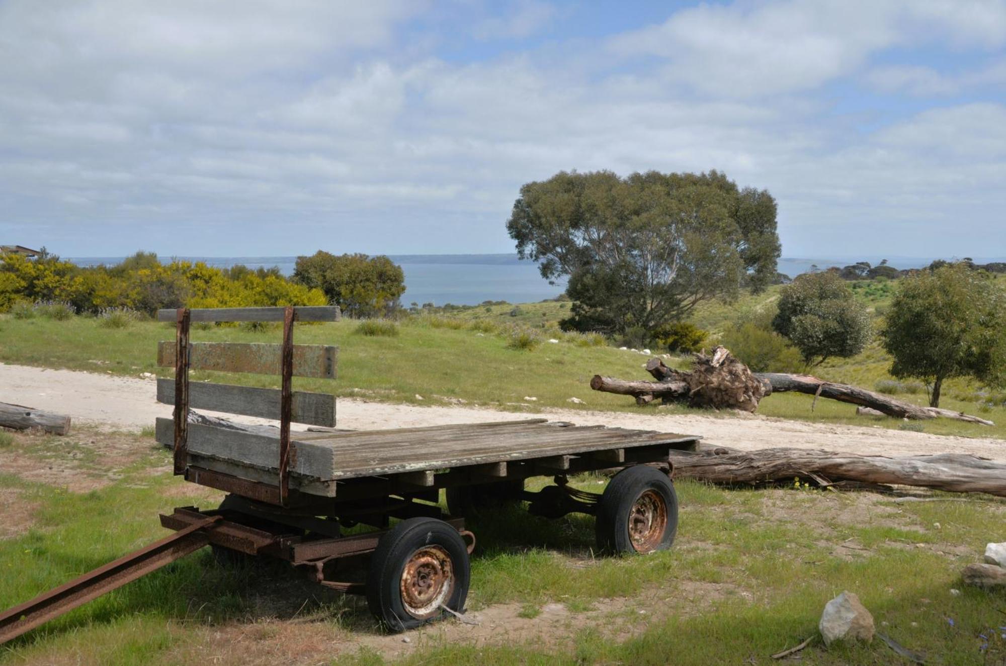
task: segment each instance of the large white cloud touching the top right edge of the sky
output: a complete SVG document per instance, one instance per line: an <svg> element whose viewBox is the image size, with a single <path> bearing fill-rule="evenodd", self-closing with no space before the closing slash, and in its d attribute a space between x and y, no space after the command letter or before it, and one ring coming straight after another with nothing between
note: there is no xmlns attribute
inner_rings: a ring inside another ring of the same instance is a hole
<svg viewBox="0 0 1006 666"><path fill-rule="evenodd" d="M1006 3L702 4L663 24L618 35L609 49L624 57L657 57L666 62L669 81L706 95L754 98L813 90L856 71L881 49L926 41L999 47L1006 41Z"/></svg>

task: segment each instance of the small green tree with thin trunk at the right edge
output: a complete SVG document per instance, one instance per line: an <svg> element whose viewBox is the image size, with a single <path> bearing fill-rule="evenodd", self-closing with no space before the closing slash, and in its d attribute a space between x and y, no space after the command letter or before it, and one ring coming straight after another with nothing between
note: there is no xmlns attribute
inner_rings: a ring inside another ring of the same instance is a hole
<svg viewBox="0 0 1006 666"><path fill-rule="evenodd" d="M1006 294L963 262L905 278L882 337L894 357L890 373L931 384L931 406L940 406L944 379L1006 384Z"/></svg>

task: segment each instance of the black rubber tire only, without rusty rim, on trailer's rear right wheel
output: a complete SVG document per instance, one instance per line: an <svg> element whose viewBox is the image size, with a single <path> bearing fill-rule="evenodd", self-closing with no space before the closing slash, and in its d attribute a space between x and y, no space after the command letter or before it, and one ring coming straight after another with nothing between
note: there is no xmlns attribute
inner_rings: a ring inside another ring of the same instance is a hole
<svg viewBox="0 0 1006 666"><path fill-rule="evenodd" d="M674 492L674 484L663 472L637 465L616 474L598 502L595 529L599 551L610 554L638 552L629 534L629 524L633 506L647 491L654 491L663 499L667 512L663 534L648 552L671 547L678 531L678 496Z"/></svg>

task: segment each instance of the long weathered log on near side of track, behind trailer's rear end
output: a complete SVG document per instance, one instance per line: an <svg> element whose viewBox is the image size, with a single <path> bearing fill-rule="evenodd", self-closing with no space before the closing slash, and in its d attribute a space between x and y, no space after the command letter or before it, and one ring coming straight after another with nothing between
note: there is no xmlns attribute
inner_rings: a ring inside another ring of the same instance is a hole
<svg viewBox="0 0 1006 666"><path fill-rule="evenodd" d="M1006 463L969 454L862 456L820 449L673 451L674 477L762 486L795 478L827 487L843 482L920 486L1006 497Z"/></svg>

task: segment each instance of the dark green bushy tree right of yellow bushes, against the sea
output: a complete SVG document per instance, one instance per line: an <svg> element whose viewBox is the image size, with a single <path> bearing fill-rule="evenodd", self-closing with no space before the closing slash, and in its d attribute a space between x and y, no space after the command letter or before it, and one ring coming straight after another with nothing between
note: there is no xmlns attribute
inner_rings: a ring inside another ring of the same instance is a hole
<svg viewBox="0 0 1006 666"><path fill-rule="evenodd" d="M311 257L297 258L293 280L322 290L349 317L390 314L405 292L401 267L384 256L336 257L319 249Z"/></svg>

